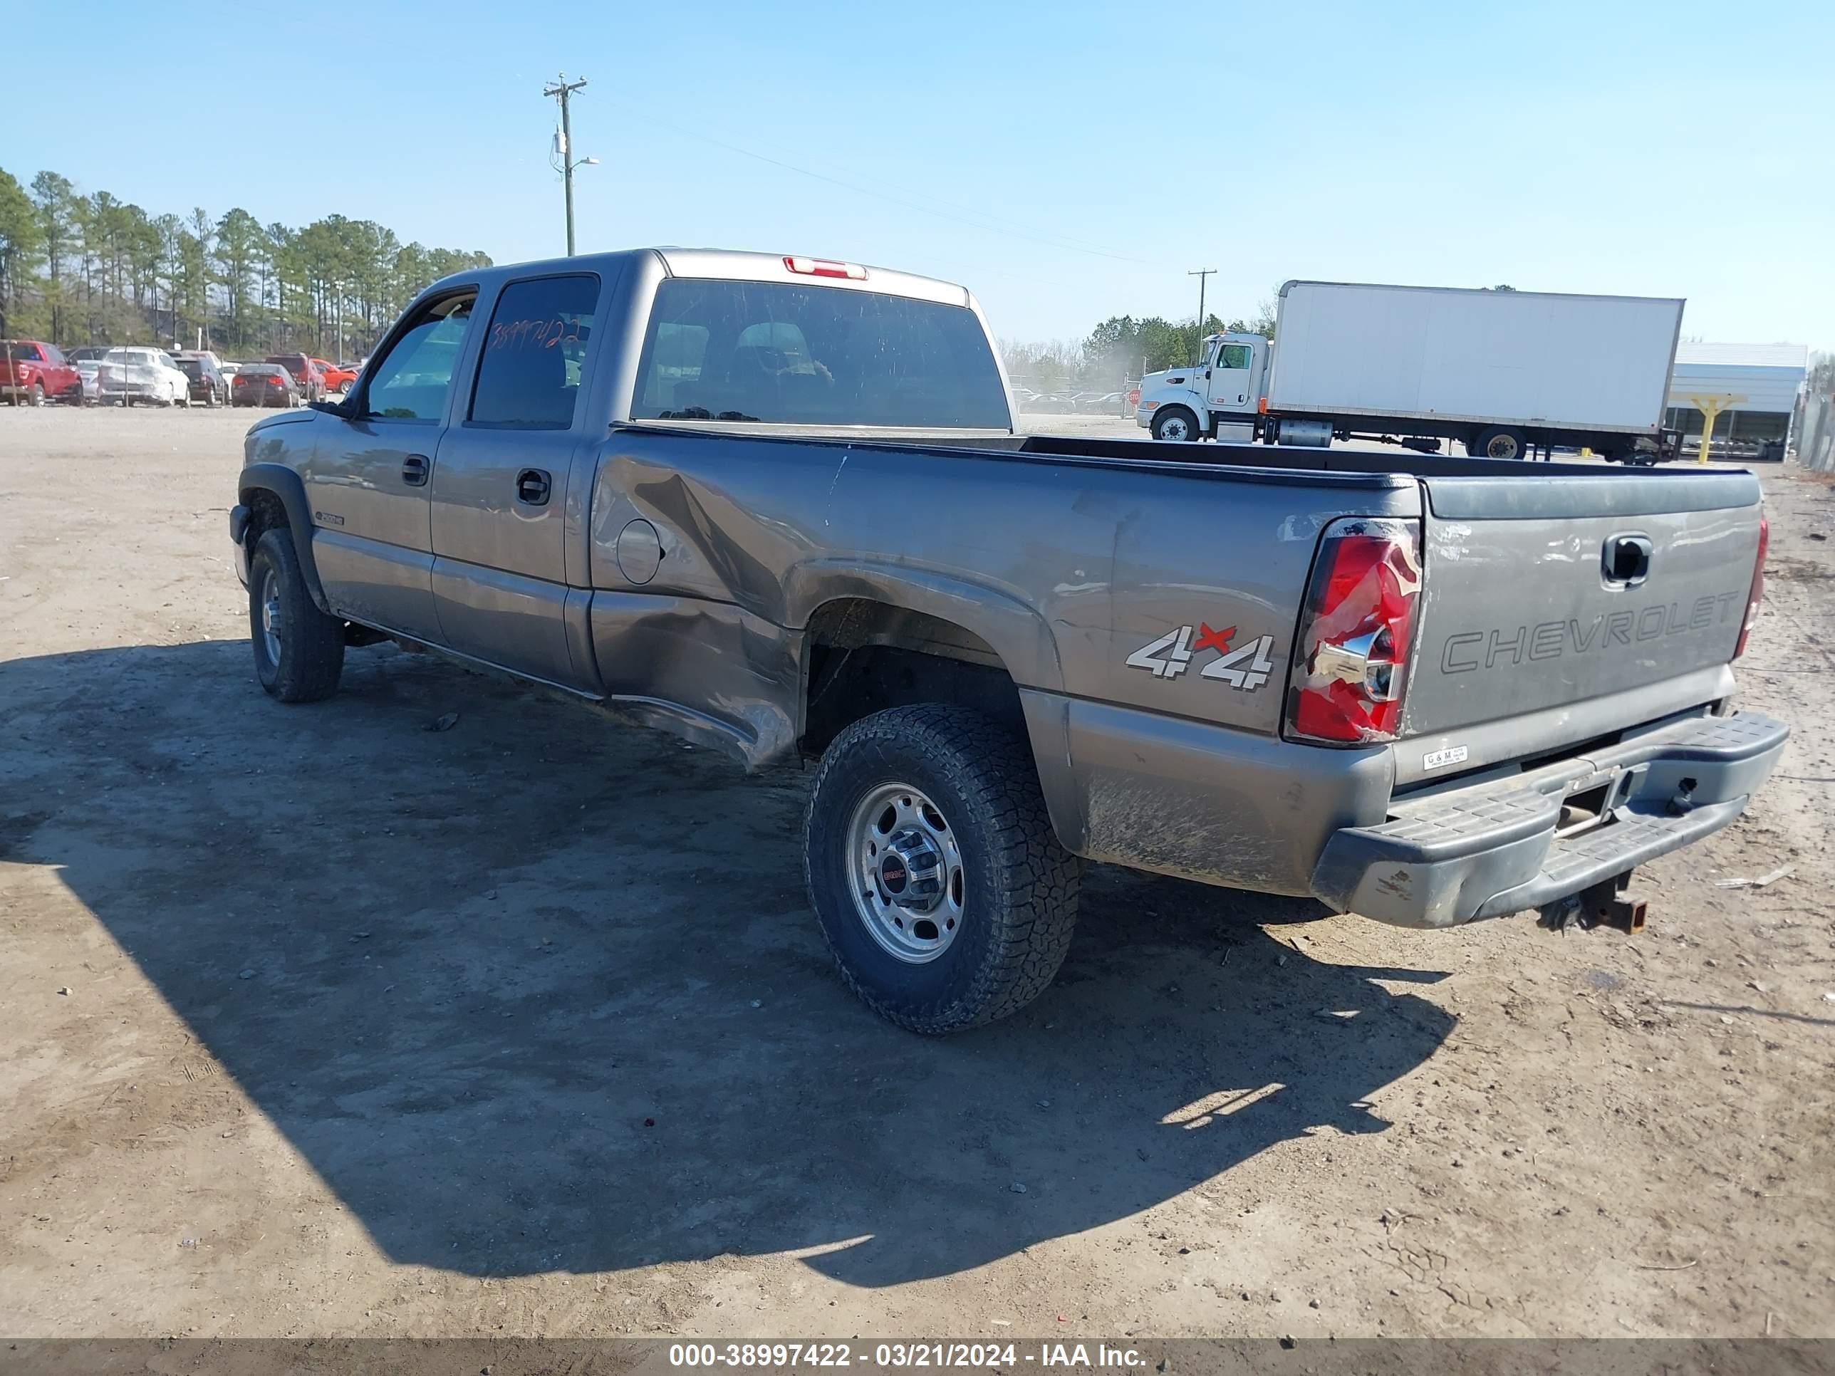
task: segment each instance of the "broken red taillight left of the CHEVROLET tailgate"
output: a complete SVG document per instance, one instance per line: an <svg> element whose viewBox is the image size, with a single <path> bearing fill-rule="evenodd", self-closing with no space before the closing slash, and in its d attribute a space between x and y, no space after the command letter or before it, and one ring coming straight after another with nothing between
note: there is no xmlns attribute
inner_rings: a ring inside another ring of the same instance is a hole
<svg viewBox="0 0 1835 1376"><path fill-rule="evenodd" d="M1393 741L1420 604L1420 528L1345 517L1319 538L1286 692L1286 734L1321 745Z"/></svg>

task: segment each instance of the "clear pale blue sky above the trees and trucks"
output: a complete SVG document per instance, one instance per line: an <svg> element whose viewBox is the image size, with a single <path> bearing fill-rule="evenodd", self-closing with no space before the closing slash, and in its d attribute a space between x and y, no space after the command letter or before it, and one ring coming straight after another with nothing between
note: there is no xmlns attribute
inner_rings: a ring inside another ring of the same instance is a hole
<svg viewBox="0 0 1835 1376"><path fill-rule="evenodd" d="M541 84L565 70L591 81L574 152L602 160L582 250L910 268L1020 339L1189 317L1185 272L1217 268L1226 314L1288 277L1512 283L1685 295L1688 336L1835 349L1826 0L84 13L75 50L7 28L0 167L156 213L560 253ZM264 39L261 13L325 18ZM283 163L286 138L314 156Z"/></svg>

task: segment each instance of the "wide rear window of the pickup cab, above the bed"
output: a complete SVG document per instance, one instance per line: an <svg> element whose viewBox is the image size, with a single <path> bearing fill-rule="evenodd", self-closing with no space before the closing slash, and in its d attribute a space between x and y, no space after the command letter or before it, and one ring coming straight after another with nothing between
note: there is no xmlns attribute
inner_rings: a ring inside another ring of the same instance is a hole
<svg viewBox="0 0 1835 1376"><path fill-rule="evenodd" d="M1007 429L965 306L796 283L673 277L657 288L635 420Z"/></svg>

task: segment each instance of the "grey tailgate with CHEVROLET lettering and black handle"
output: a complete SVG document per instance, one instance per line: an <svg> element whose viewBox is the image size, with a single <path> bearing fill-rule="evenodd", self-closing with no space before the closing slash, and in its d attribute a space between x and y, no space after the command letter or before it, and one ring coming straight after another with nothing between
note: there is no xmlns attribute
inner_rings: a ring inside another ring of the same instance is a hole
<svg viewBox="0 0 1835 1376"><path fill-rule="evenodd" d="M1732 659L1745 620L1756 477L1569 470L1540 479L1525 468L1424 477L1422 488L1420 629L1404 732L1439 739L1424 756L1398 749L1398 783L1558 750L1725 692L1714 670ZM1615 695L1629 719L1578 708ZM1477 730L1486 723L1494 728Z"/></svg>

